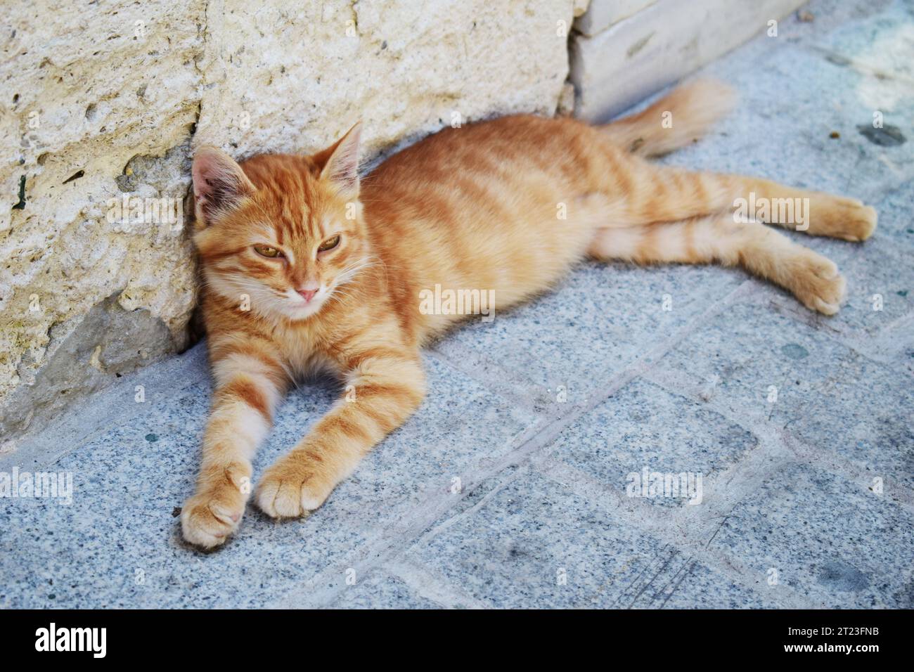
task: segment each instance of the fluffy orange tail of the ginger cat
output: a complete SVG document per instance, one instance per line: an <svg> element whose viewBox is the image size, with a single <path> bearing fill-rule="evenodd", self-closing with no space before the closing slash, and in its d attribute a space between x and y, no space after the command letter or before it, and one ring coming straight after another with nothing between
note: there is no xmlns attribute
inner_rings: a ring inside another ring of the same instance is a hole
<svg viewBox="0 0 914 672"><path fill-rule="evenodd" d="M659 156L695 142L725 116L736 93L717 80L685 84L643 112L600 128L621 147L642 156Z"/></svg>

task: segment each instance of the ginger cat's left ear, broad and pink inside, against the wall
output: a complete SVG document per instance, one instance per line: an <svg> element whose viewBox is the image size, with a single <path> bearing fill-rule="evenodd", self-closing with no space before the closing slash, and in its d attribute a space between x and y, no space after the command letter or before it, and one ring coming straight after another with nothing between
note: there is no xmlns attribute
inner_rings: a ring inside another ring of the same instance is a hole
<svg viewBox="0 0 914 672"><path fill-rule="evenodd" d="M194 207L197 221L207 226L218 212L236 208L257 190L231 156L216 147L200 147L194 155Z"/></svg>

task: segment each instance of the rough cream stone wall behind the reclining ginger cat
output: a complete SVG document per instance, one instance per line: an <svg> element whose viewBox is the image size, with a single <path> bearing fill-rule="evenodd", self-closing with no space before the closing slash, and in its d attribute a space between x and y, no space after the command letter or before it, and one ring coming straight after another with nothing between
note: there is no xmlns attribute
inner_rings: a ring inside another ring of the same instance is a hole
<svg viewBox="0 0 914 672"><path fill-rule="evenodd" d="M0 452L186 347L197 146L310 152L361 118L370 164L458 116L605 117L799 3L588 4L7 0Z"/></svg>

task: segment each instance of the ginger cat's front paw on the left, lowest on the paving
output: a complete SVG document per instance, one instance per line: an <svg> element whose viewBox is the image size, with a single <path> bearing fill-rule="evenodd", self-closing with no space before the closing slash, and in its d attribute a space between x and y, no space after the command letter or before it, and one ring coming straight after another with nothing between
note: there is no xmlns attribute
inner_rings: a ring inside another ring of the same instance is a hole
<svg viewBox="0 0 914 672"><path fill-rule="evenodd" d="M186 541L213 549L238 529L250 492L250 486L246 487L250 483L248 477L241 476L240 480L239 486L226 476L185 502L181 508L181 531Z"/></svg>

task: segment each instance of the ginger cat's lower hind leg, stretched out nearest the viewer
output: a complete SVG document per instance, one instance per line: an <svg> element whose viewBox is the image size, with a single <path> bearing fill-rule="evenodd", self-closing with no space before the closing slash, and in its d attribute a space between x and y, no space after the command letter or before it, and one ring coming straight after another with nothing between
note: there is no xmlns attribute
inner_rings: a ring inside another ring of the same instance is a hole
<svg viewBox="0 0 914 672"><path fill-rule="evenodd" d="M640 227L600 229L591 257L647 263L719 263L790 290L807 308L834 315L845 279L834 262L756 222L730 214Z"/></svg>

